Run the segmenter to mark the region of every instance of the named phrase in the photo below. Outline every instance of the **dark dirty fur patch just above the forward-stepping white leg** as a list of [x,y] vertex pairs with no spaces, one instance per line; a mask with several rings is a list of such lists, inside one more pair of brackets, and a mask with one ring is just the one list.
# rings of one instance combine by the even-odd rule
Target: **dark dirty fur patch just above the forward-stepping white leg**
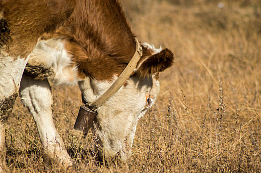
[[25,66],[23,75],[35,80],[44,80],[52,77],[54,75],[54,71],[51,69],[46,69],[40,65],[33,66],[27,64]]

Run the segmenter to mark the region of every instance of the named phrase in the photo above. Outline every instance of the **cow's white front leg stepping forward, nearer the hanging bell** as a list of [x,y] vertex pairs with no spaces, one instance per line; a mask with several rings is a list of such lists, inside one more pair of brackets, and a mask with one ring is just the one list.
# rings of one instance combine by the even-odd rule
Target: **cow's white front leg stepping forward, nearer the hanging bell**
[[23,76],[19,94],[22,103],[33,115],[47,157],[65,168],[71,166],[71,158],[53,122],[53,99],[48,80],[39,81]]

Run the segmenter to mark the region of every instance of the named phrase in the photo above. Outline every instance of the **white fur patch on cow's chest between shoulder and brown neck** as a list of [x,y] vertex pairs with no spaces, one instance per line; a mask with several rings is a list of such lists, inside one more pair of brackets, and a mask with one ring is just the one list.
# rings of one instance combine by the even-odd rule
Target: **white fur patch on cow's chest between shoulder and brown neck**
[[55,85],[75,85],[78,82],[77,67],[71,61],[70,54],[65,50],[63,39],[39,41],[35,45],[28,63],[52,69],[55,76],[49,80]]

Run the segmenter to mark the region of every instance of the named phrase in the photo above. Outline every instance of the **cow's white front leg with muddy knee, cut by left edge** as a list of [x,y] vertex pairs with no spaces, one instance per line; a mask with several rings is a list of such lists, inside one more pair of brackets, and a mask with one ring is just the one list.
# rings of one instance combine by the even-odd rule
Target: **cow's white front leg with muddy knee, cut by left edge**
[[5,122],[12,110],[28,58],[11,57],[0,47],[0,173],[5,164]]

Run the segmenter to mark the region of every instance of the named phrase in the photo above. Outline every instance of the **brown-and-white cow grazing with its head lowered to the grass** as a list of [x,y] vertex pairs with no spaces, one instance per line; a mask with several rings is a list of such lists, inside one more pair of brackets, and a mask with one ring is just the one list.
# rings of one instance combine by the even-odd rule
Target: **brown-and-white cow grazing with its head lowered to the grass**
[[0,0],[0,170],[4,124],[18,92],[44,152],[67,167],[72,161],[52,120],[49,82],[78,84],[83,103],[93,103],[138,57],[127,80],[92,107],[100,156],[127,159],[137,122],[158,95],[158,73],[174,59],[169,49],[139,44],[118,0]]

